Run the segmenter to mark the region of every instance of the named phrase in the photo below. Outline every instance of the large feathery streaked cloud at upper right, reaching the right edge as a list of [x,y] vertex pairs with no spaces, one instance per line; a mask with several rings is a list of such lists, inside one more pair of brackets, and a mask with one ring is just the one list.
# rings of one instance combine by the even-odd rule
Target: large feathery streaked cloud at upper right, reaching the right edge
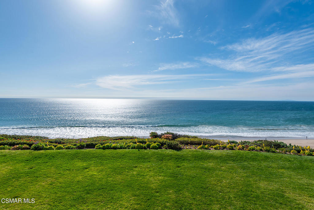
[[314,47],[312,28],[285,34],[275,33],[264,38],[250,38],[221,49],[234,52],[230,57],[200,58],[203,62],[233,71],[257,72],[280,68],[305,50]]

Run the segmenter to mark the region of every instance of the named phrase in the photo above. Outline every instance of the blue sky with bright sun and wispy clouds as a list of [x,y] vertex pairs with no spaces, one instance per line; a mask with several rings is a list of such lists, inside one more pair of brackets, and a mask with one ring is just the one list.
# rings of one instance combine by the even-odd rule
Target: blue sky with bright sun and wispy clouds
[[2,0],[0,97],[314,101],[310,0]]

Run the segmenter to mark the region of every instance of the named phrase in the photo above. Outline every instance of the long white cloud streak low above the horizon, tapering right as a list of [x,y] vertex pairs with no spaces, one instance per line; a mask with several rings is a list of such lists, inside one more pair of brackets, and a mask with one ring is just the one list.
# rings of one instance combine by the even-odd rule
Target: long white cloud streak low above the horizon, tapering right
[[180,80],[213,76],[213,74],[185,75],[109,75],[96,80],[96,85],[113,90],[125,90],[139,85],[174,83]]

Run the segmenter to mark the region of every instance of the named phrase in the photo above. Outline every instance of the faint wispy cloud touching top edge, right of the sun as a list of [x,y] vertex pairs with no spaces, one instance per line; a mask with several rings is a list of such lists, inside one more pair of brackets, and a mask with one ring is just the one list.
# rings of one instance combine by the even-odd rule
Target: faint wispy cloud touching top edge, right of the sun
[[160,5],[155,6],[155,16],[169,25],[179,26],[178,12],[174,6],[174,0],[162,0]]

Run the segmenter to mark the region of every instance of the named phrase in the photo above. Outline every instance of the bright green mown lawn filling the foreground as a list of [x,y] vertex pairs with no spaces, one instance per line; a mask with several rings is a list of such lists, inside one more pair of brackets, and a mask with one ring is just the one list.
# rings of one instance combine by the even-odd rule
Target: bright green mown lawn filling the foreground
[[0,209],[314,209],[314,157],[228,150],[0,151]]

